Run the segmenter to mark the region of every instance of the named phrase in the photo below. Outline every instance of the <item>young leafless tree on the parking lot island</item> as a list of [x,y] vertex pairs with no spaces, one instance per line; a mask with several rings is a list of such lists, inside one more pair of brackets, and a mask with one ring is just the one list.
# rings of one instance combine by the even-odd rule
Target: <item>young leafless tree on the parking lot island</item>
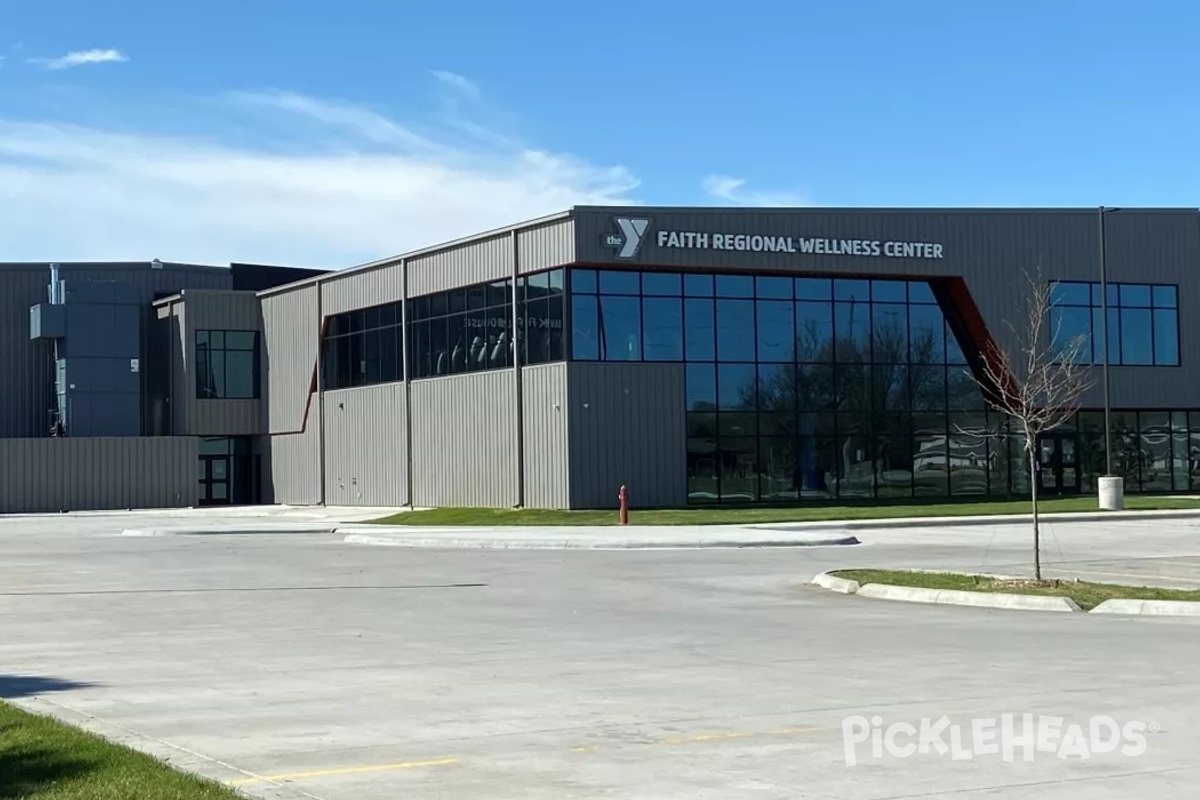
[[1028,295],[1022,314],[1006,320],[1012,332],[1008,348],[990,342],[980,353],[979,374],[971,373],[988,404],[1015,423],[1025,444],[1033,503],[1033,577],[1042,581],[1042,531],[1038,521],[1037,440],[1069,421],[1084,393],[1094,384],[1088,369],[1087,336],[1063,338],[1052,319],[1054,291],[1040,273],[1025,273]]

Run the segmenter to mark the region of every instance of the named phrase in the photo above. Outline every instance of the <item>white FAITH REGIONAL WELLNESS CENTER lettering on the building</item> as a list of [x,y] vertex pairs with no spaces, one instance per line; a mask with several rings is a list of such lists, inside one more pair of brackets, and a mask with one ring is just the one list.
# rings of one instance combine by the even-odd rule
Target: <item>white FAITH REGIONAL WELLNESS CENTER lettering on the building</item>
[[694,230],[659,230],[659,247],[674,249],[720,249],[737,253],[810,253],[814,255],[859,255],[880,258],[944,258],[942,245],[871,239],[805,239],[762,234],[707,234]]

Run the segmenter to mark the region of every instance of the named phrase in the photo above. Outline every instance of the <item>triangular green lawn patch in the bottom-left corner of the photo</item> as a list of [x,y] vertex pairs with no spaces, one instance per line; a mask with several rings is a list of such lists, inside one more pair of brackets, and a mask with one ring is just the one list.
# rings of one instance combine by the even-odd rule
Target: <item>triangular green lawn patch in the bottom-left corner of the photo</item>
[[238,800],[217,783],[0,702],[2,800]]

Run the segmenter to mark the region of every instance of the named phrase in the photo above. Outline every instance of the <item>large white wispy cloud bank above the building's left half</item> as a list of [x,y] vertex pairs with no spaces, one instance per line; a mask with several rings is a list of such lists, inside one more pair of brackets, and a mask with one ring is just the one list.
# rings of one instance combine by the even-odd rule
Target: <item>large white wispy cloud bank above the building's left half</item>
[[0,115],[5,260],[337,267],[572,204],[631,203],[638,185],[624,167],[510,134],[418,132],[326,98],[241,94],[214,108],[224,136]]

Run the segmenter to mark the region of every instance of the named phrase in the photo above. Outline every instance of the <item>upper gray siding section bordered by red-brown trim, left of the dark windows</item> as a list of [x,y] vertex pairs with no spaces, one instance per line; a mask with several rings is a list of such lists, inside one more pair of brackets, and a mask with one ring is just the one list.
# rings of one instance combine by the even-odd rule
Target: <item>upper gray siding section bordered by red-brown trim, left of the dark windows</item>
[[305,429],[310,410],[320,338],[317,285],[307,284],[266,295],[262,302],[262,385],[266,429],[270,433],[300,433]]

